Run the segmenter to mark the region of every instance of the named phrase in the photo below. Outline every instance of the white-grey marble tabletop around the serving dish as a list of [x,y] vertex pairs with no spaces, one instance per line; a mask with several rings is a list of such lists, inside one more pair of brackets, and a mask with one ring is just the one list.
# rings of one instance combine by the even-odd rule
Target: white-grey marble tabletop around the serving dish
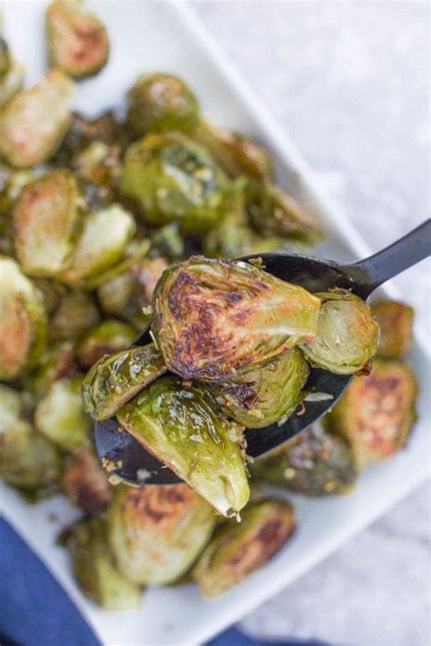
[[[427,3],[194,6],[371,247],[429,217]],[[429,276],[423,263],[394,281],[428,329]],[[426,646],[429,565],[424,487],[242,626],[340,646]]]

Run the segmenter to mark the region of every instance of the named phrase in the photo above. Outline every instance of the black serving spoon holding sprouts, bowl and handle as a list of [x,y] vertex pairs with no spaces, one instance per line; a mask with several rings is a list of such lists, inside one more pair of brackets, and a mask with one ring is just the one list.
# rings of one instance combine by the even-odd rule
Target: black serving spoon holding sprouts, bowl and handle
[[[346,288],[366,300],[382,283],[413,267],[420,260],[424,260],[430,252],[431,219],[428,219],[390,247],[349,265],[338,265],[331,260],[281,252],[255,254],[243,257],[241,260],[260,257],[267,272],[276,278],[301,285],[311,292]],[[149,331],[145,330],[136,340],[135,345],[142,346],[151,340]],[[327,370],[311,368],[306,388],[327,393],[331,399],[306,401],[302,409],[296,410],[296,413],[280,426],[271,424],[264,429],[247,429],[247,454],[253,458],[259,458],[306,429],[334,406],[351,379],[350,376],[335,375]],[[139,473],[144,472],[145,485],[170,484],[179,481],[175,473],[148,453],[137,439],[125,430],[119,432],[115,418],[95,424],[95,446],[99,457],[109,460],[112,467],[115,466],[112,472],[120,479],[140,484],[142,480],[139,479]],[[150,477],[148,473],[151,474]]]

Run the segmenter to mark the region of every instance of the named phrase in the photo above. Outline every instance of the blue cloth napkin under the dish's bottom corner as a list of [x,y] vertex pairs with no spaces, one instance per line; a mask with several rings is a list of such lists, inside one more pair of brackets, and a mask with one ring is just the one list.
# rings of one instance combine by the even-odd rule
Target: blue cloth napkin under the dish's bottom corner
[[[256,641],[231,628],[207,646],[278,646]],[[65,590],[0,518],[1,646],[97,646],[94,632]],[[289,646],[325,646],[318,641],[289,641]],[[125,645],[126,646],[126,645]]]

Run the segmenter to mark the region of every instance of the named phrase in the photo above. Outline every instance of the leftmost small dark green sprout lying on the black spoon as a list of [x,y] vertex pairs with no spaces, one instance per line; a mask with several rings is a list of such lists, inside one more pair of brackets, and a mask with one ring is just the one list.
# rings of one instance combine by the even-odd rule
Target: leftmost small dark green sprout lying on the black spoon
[[153,343],[100,358],[84,379],[85,410],[98,421],[108,419],[165,372],[163,358]]

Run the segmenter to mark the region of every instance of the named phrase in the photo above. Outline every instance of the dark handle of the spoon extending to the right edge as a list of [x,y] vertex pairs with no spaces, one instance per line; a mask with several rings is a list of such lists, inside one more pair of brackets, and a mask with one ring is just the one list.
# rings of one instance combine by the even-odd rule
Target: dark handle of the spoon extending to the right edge
[[394,278],[431,254],[431,219],[373,256],[349,265],[352,277],[364,285],[369,296],[379,285]]

